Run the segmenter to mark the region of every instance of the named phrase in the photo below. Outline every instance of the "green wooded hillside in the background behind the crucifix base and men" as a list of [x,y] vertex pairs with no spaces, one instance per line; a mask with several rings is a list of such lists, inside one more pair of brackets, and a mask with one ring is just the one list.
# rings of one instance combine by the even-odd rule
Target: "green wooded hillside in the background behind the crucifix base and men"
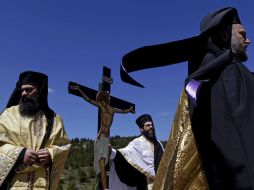
[[[125,147],[132,137],[111,137],[113,148]],[[65,170],[60,180],[58,190],[94,190],[96,175],[93,170],[93,143],[91,139],[75,138],[71,140],[71,151],[65,164]],[[166,142],[162,142],[165,146]]]

